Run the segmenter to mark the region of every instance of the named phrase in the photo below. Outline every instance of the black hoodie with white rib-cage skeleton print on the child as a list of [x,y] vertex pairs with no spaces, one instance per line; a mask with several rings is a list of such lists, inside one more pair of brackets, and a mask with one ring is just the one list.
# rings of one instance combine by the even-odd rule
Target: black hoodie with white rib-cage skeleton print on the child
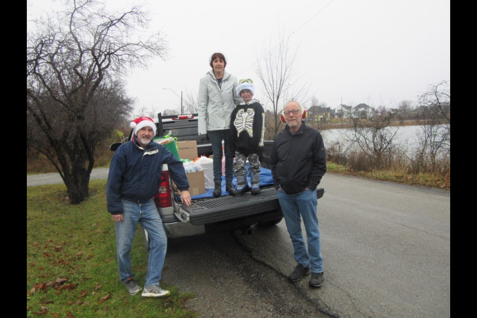
[[258,154],[263,151],[265,112],[260,102],[241,102],[230,116],[230,148],[233,154]]

